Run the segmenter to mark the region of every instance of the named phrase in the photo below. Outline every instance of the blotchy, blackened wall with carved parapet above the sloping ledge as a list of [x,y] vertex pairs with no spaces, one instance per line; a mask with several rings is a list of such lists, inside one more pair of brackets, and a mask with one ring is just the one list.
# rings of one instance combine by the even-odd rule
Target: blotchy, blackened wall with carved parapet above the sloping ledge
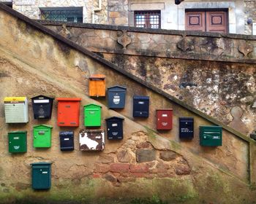
[[75,24],[48,27],[241,133],[255,129],[254,37]]

